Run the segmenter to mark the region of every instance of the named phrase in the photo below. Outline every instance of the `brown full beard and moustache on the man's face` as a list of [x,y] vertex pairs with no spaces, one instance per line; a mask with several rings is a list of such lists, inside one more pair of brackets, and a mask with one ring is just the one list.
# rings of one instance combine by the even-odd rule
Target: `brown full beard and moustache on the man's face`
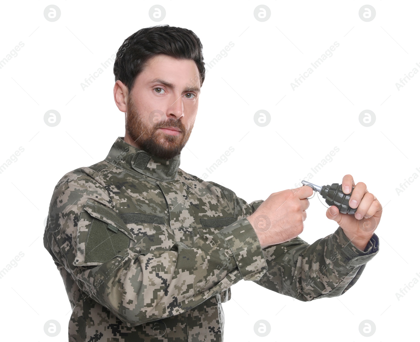
[[[161,113],[161,115],[159,115]],[[159,117],[160,116],[160,117]],[[187,131],[180,119],[164,119],[166,115],[160,110],[150,114],[139,114],[131,95],[128,98],[126,115],[126,132],[140,149],[158,158],[172,159],[181,153],[189,139],[194,122]],[[157,122],[156,119],[158,118]],[[152,126],[150,126],[152,124]],[[158,130],[159,128],[175,127],[179,129],[178,135],[169,135]]]

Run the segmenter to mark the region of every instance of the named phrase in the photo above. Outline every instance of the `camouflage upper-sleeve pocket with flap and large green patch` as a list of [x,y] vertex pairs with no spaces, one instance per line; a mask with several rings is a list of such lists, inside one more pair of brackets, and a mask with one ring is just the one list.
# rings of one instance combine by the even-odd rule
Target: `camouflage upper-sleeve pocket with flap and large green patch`
[[123,257],[134,237],[114,210],[93,200],[87,200],[77,227],[75,266],[100,265]]

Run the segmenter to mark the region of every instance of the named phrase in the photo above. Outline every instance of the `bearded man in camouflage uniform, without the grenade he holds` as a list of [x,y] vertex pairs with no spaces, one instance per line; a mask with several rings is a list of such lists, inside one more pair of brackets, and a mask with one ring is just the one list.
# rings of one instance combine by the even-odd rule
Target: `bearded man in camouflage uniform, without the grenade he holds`
[[[205,69],[190,30],[141,29],[120,47],[114,99],[126,132],[105,160],[64,175],[44,245],[73,312],[69,341],[222,341],[221,303],[241,279],[298,300],[339,296],[378,253],[382,207],[355,184],[331,235],[299,238],[310,187],[247,203],[179,168]],[[349,193],[353,178],[343,178]],[[354,202],[353,202],[354,201]]]

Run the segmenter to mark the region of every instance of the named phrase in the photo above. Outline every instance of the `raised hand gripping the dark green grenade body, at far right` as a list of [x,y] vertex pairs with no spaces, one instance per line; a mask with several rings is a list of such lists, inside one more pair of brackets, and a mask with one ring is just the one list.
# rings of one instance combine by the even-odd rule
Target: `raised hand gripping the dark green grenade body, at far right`
[[367,191],[365,183],[359,182],[354,185],[353,177],[349,174],[345,175],[341,185],[343,192],[349,194],[353,186],[349,205],[351,208],[357,208],[356,213],[354,215],[342,214],[335,205],[331,205],[326,216],[336,221],[352,244],[364,251],[381,220],[382,205],[373,194]]

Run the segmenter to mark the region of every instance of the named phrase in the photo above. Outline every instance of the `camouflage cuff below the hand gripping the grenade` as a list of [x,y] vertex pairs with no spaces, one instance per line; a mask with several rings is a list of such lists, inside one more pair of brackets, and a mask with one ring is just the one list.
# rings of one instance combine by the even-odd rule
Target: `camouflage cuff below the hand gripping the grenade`
[[364,251],[354,246],[339,226],[333,234],[333,241],[338,246],[340,254],[348,261],[347,268],[361,266],[371,260],[379,251],[378,235],[373,233]]

